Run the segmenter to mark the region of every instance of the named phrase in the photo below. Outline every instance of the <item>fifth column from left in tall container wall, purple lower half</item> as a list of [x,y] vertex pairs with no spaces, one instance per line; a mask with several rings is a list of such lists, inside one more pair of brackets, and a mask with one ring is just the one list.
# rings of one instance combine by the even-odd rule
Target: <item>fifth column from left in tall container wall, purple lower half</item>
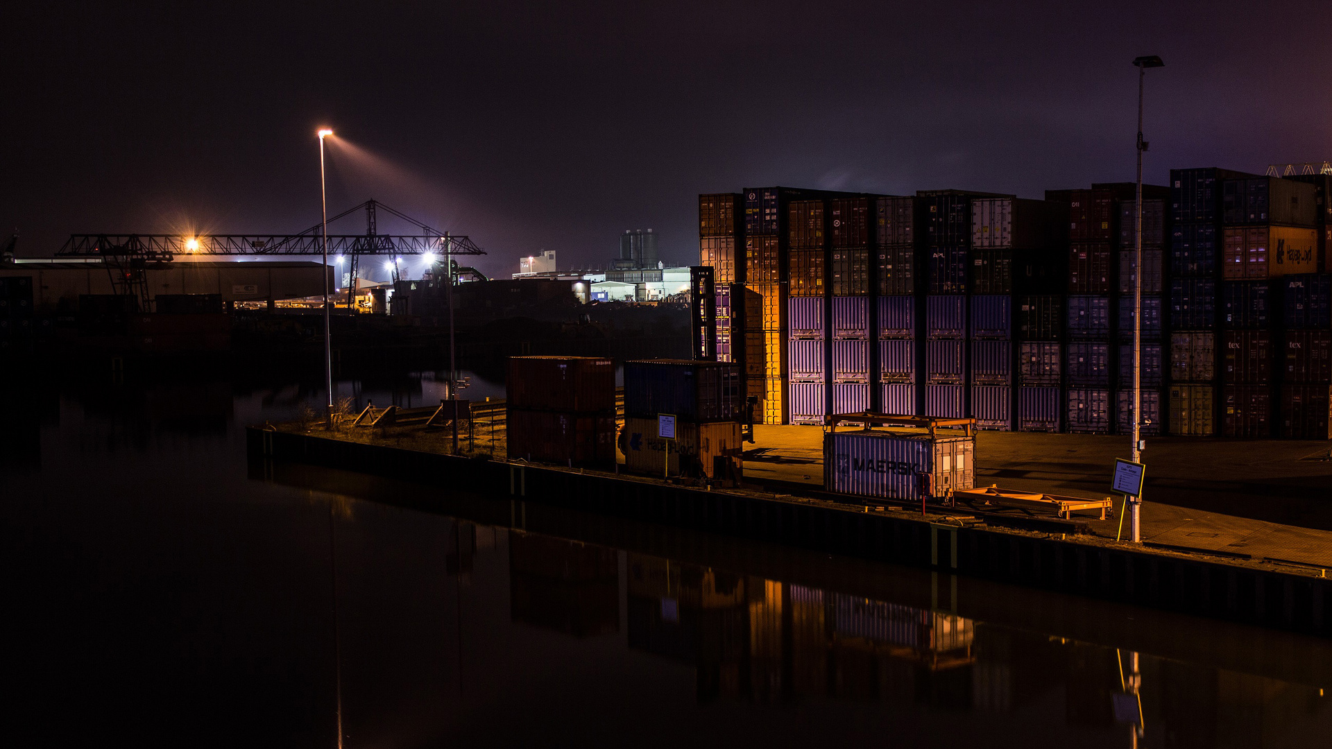
[[916,413],[916,199],[878,197],[874,284],[878,402],[882,413]]

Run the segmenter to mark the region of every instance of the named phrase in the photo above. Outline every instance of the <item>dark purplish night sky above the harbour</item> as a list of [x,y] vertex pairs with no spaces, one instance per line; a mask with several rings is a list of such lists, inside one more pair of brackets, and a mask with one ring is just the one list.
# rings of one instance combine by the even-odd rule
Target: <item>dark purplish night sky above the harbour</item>
[[298,232],[328,125],[330,213],[376,197],[492,273],[649,227],[687,264],[699,192],[1132,180],[1148,53],[1148,181],[1332,159],[1329,3],[377,5],[5,4],[4,236]]

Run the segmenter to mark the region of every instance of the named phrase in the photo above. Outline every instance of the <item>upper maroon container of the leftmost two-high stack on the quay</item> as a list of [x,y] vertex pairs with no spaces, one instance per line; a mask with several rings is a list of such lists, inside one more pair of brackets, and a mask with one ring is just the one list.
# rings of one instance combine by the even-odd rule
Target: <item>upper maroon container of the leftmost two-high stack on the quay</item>
[[615,413],[615,365],[589,356],[509,357],[507,408]]

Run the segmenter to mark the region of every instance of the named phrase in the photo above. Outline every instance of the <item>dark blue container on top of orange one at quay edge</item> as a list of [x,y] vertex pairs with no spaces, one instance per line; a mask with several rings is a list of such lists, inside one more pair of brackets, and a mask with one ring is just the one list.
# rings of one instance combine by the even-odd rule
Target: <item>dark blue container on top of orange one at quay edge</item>
[[625,363],[625,416],[673,413],[678,421],[733,421],[743,408],[737,364],[678,359]]

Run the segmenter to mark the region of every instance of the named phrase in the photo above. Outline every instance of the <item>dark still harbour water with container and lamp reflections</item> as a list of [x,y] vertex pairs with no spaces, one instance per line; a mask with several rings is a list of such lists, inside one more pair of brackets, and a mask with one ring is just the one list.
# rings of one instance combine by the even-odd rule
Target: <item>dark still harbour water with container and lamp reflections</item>
[[[438,382],[416,381],[410,397],[430,402]],[[394,386],[358,392],[378,402]],[[24,398],[0,480],[20,744],[330,745],[333,545],[348,746],[1316,746],[1332,728],[1325,685],[1188,650],[1188,632],[1144,634],[1135,658],[1112,637],[967,616],[919,570],[831,560],[831,582],[811,584],[773,572],[805,569],[805,552],[715,564],[699,549],[731,542],[647,552],[538,532],[542,517],[579,528],[538,505],[521,530],[366,498],[414,505],[438,488],[249,478],[241,428],[308,394],[213,382]],[[507,497],[468,501],[510,517]],[[1078,605],[1023,596],[1038,612]],[[1239,650],[1253,637],[1205,628]]]

